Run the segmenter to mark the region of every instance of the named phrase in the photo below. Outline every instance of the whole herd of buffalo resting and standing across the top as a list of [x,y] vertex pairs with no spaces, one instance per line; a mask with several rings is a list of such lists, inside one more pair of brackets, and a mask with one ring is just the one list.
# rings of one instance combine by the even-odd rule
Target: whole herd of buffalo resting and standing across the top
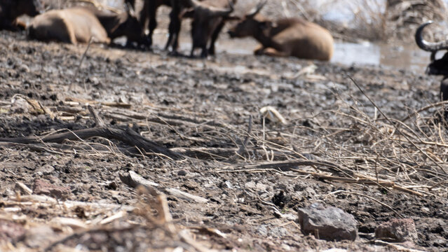
[[[134,9],[140,2],[140,10]],[[79,6],[44,12],[40,0],[0,0],[0,29],[18,29],[20,15],[34,17],[26,25],[29,38],[39,41],[65,43],[112,43],[114,38],[125,36],[127,45],[150,48],[157,27],[157,9],[169,6],[170,25],[165,50],[177,54],[182,20],[191,18],[191,57],[201,50],[201,57],[215,55],[215,42],[229,20],[237,24],[229,29],[229,36],[242,38],[252,36],[259,43],[256,55],[274,57],[299,57],[328,61],[333,55],[333,37],[330,31],[312,22],[299,18],[271,20],[262,16],[266,0],[255,6],[243,17],[233,15],[237,0],[124,0],[125,11],[112,13],[95,6]],[[419,48],[432,52],[427,73],[444,76],[440,85],[440,96],[448,100],[448,52],[435,59],[436,52],[448,50],[448,41],[430,43],[422,37],[427,22],[416,30],[415,40]],[[23,26],[23,25],[22,25]],[[145,31],[149,29],[147,34]]]

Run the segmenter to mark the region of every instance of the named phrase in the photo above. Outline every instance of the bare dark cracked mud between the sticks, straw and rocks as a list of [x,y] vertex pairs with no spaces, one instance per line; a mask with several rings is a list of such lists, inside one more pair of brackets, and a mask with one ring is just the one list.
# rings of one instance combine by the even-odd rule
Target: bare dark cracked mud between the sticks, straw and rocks
[[[41,136],[60,130],[93,127],[94,122],[86,111],[86,104],[91,104],[107,124],[132,127],[168,148],[238,149],[243,142],[240,132],[247,130],[248,118],[252,116],[254,135],[262,137],[266,133],[269,141],[295,148],[311,160],[330,160],[337,154],[332,150],[338,146],[319,146],[317,143],[324,135],[338,129],[351,128],[335,134],[334,143],[353,145],[353,150],[359,153],[372,146],[372,140],[362,137],[365,133],[362,125],[353,125],[353,120],[335,113],[337,108],[351,104],[365,111],[365,115],[379,118],[378,111],[348,76],[359,83],[389,118],[405,118],[409,113],[439,101],[439,78],[390,67],[346,66],[226,52],[206,60],[189,59],[170,57],[157,48],[154,52],[142,52],[102,45],[92,45],[80,66],[85,50],[86,45],[39,43],[27,41],[24,34],[0,32],[0,137]],[[311,64],[315,64],[315,72],[298,75],[301,69]],[[74,87],[72,90],[70,85]],[[41,102],[53,111],[55,118],[39,114],[22,97]],[[75,106],[76,101],[83,102]],[[122,102],[130,104],[130,108],[105,106],[99,102]],[[287,118],[287,125],[266,123],[263,130],[259,109],[268,105]],[[67,112],[69,106],[79,110]],[[437,109],[425,111],[421,116],[430,120],[435,118],[435,111]],[[137,113],[145,118],[133,116]],[[171,125],[158,118],[171,122]],[[417,127],[414,126],[411,125],[413,129]],[[285,139],[287,134],[293,137]],[[109,144],[104,139],[89,139],[88,142]],[[118,141],[112,143],[118,147],[132,147]],[[249,143],[255,147],[263,145],[257,139],[251,139]],[[435,149],[431,150],[435,152]],[[424,196],[419,197],[372,185],[285,176],[288,172],[222,172],[241,164],[264,162],[264,152],[243,155],[244,158],[238,158],[233,164],[224,162],[219,153],[217,158],[175,161],[158,155],[132,157],[113,151],[96,153],[89,148],[55,154],[20,146],[0,147],[0,154],[0,178],[3,181],[0,195],[3,200],[15,196],[16,182],[32,188],[35,179],[43,179],[55,186],[70,188],[67,200],[135,206],[135,191],[118,177],[118,173],[131,170],[161,186],[204,197],[209,201],[200,204],[168,195],[168,204],[176,225],[216,228],[226,234],[225,238],[210,234],[196,237],[210,248],[393,251],[391,246],[381,246],[372,240],[376,226],[391,218],[415,221],[419,238],[410,245],[413,248],[446,251],[448,246],[448,200],[444,187],[437,193],[424,190]],[[276,154],[275,160],[285,158]],[[360,169],[358,165],[356,160],[351,162],[353,169]],[[445,167],[443,163],[442,166]],[[398,174],[393,165],[389,168],[391,174]],[[423,168],[437,169],[430,162]],[[388,170],[380,171],[382,178],[385,178],[384,174],[389,174]],[[412,179],[418,176],[415,181],[425,181],[426,177],[429,186],[433,185],[432,181],[437,181],[433,173],[424,174],[420,170],[417,175],[410,176]],[[402,180],[397,177],[397,181]],[[348,193],[338,193],[340,190]],[[274,204],[290,219],[278,216],[266,202]],[[299,207],[313,202],[323,202],[353,214],[358,221],[360,237],[353,242],[327,242],[302,235],[294,217]],[[1,211],[4,209],[0,207]],[[83,221],[97,217],[86,216],[83,211],[88,210],[22,207],[15,214],[27,216],[34,223],[46,223],[61,216]],[[56,235],[60,232],[54,231]],[[157,236],[151,237],[144,229],[123,231],[118,235],[121,239],[115,239],[114,232],[98,231],[88,239],[69,239],[65,246],[83,244],[92,250],[106,251],[132,251],[132,247],[134,251],[144,251],[158,242]],[[17,246],[22,242],[20,239],[10,241]]]

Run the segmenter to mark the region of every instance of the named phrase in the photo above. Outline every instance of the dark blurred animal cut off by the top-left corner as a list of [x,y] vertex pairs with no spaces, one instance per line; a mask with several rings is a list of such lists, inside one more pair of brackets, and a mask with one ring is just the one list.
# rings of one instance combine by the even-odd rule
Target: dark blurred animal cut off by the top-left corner
[[39,0],[0,0],[0,30],[17,29],[15,19],[20,15],[34,17],[43,10]]

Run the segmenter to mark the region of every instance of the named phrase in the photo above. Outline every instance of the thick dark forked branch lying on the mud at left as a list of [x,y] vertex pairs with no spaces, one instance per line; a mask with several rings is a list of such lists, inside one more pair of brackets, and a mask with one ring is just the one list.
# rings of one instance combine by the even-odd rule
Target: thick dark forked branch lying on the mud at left
[[45,137],[14,137],[14,138],[0,138],[0,142],[13,142],[17,144],[39,144],[42,142],[62,143],[67,140],[88,139],[90,137],[104,137],[106,139],[116,139],[122,141],[130,146],[135,146],[140,150],[150,153],[160,153],[173,160],[181,158],[179,153],[170,151],[168,148],[159,146],[153,141],[146,139],[137,132],[127,128],[122,130],[118,127],[107,127],[104,122],[97,116],[95,111],[88,106],[90,115],[95,120],[96,126],[90,129],[73,130],[70,132],[50,134]]

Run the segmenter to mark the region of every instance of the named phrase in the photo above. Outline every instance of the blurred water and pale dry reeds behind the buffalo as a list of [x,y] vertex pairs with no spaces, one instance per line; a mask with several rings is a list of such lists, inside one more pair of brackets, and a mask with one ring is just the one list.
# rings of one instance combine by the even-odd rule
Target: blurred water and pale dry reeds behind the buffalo
[[[123,0],[88,1],[123,9]],[[238,0],[235,14],[244,15],[258,2]],[[414,32],[423,22],[433,20],[435,24],[425,30],[424,38],[428,41],[447,39],[447,3],[448,0],[268,0],[262,14],[273,19],[304,18],[329,29],[336,40],[332,62],[423,72],[429,62],[429,53],[416,47]],[[63,8],[79,4],[79,1],[46,0],[46,4],[51,8]],[[155,43],[159,48],[168,35],[169,11],[168,7],[158,10]],[[188,34],[189,20],[186,20],[182,28],[181,50],[190,47]],[[252,54],[257,46],[251,38],[230,40],[224,33],[220,38],[217,50],[221,52]]]

